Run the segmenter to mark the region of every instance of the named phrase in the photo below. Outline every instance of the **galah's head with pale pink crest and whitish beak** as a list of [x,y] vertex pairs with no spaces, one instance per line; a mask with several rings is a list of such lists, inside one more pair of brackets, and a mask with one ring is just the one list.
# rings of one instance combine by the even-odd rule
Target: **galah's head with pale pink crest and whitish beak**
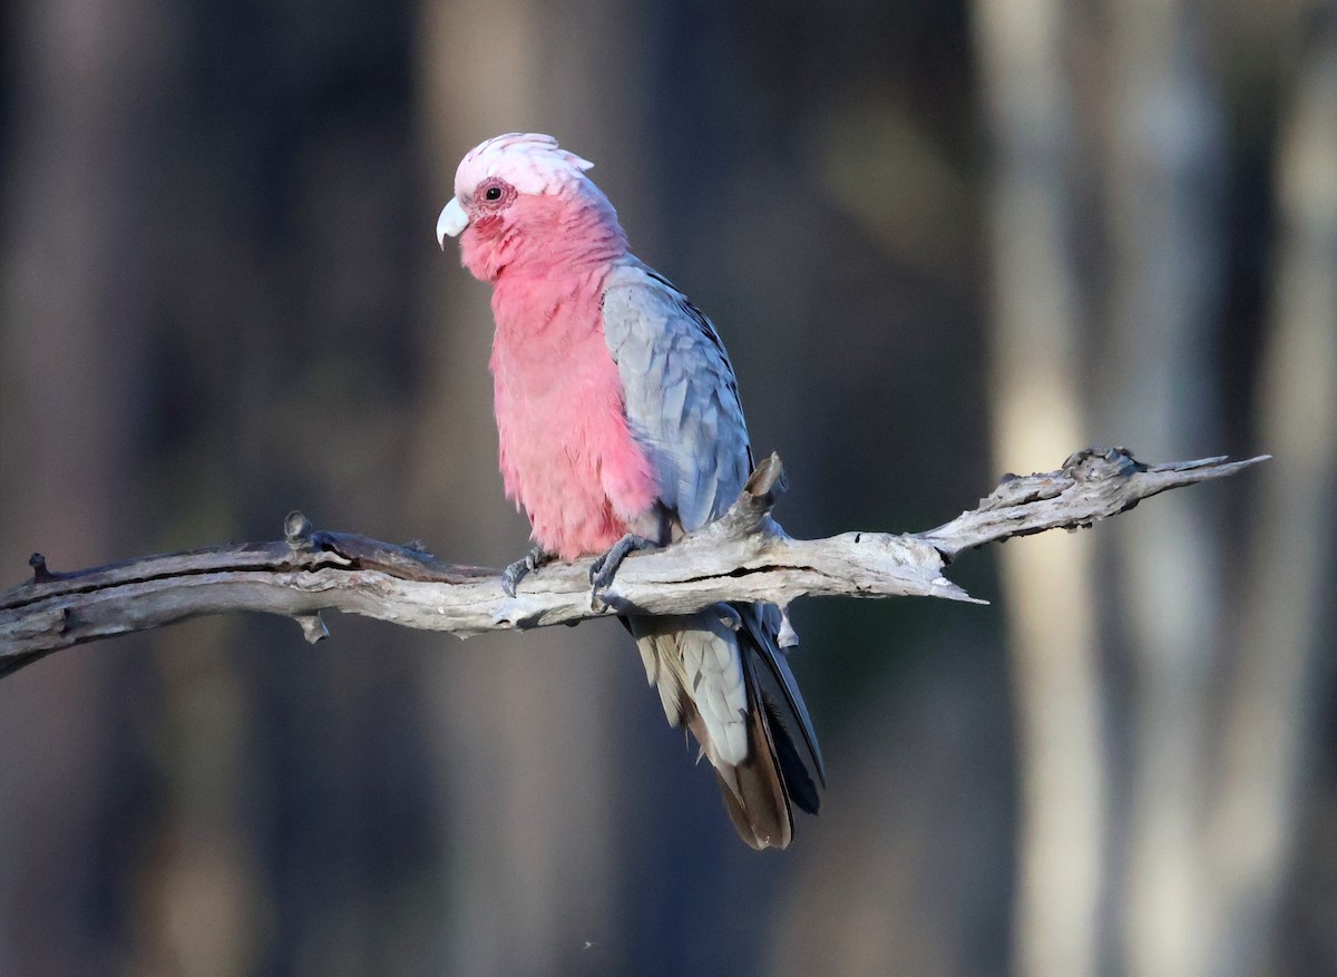
[[608,198],[584,171],[594,163],[552,136],[508,132],[465,154],[436,238],[460,238],[460,258],[483,281],[532,261],[556,263],[626,249]]

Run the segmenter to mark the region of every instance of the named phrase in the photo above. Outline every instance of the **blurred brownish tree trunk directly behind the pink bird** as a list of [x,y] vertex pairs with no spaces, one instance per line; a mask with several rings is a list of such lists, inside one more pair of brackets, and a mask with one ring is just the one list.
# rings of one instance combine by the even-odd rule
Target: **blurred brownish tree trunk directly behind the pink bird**
[[[635,45],[618,40],[627,31],[623,16],[614,3],[579,15],[531,0],[424,4],[421,130],[440,204],[453,192],[460,156],[508,130],[554,132],[596,162],[616,159],[623,179],[602,183],[626,204],[635,190],[626,175],[639,168],[627,123],[635,65],[619,55]],[[422,214],[424,247],[435,261],[422,302],[431,378],[413,507],[439,549],[509,561],[529,543],[524,521],[505,519],[511,504],[497,474],[489,289],[460,269],[456,242],[436,254],[435,219]],[[620,779],[634,652],[611,623],[476,640],[511,647],[449,648],[436,659],[428,694],[440,716],[435,735],[451,833],[445,970],[598,969],[619,954],[606,921],[615,916],[626,818],[612,799],[618,791],[591,785]],[[540,660],[547,664],[536,667]]]

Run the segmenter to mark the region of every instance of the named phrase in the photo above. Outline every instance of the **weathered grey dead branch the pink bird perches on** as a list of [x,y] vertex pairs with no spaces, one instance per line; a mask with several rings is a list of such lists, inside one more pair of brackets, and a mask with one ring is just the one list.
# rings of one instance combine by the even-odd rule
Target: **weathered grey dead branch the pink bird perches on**
[[328,635],[320,617],[325,609],[467,638],[626,611],[683,613],[722,600],[786,605],[801,596],[846,595],[969,601],[943,576],[967,549],[1088,527],[1148,496],[1234,474],[1266,457],[1148,466],[1122,448],[1087,449],[1058,472],[1005,476],[977,508],[928,532],[796,540],[770,517],[786,485],[773,454],[722,519],[671,547],[628,557],[599,595],[590,589],[588,561],[544,567],[508,597],[500,571],[444,563],[413,545],[313,531],[297,512],[275,543],[147,556],[74,573],[56,573],[33,555],[32,579],[0,593],[0,675],[72,644],[233,611],[293,617],[317,642]]

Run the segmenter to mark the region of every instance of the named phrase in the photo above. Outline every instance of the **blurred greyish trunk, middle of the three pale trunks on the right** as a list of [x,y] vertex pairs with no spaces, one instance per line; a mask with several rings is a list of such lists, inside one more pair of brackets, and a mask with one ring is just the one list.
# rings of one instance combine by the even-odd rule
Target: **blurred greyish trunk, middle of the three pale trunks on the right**
[[[1191,452],[1219,441],[1219,108],[1190,4],[1108,11],[1110,293],[1094,437]],[[1131,666],[1122,956],[1146,977],[1191,977],[1209,962],[1199,826],[1223,605],[1211,501],[1171,500],[1116,535],[1111,620],[1123,628],[1112,634]]]

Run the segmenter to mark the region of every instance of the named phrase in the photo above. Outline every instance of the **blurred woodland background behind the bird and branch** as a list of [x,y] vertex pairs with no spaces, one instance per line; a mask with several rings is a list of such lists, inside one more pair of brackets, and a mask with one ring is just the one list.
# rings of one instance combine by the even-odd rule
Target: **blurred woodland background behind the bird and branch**
[[1337,973],[1332,0],[13,0],[0,585],[290,508],[516,559],[433,241],[511,130],[714,317],[794,535],[1275,461],[963,559],[989,607],[797,605],[783,853],[612,623],[51,656],[0,682],[0,974]]

